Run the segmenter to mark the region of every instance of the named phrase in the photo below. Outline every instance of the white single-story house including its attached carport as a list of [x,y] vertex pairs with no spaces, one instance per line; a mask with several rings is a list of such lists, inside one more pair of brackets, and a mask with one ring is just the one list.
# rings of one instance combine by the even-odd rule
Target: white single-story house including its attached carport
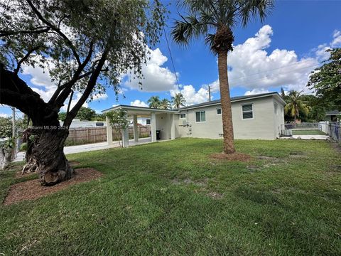
[[[234,139],[276,139],[284,124],[286,102],[277,92],[232,97]],[[151,120],[151,142],[160,139],[196,137],[219,139],[222,137],[222,110],[220,100],[213,100],[178,110],[160,110],[149,107],[117,105],[103,110],[125,110],[133,118],[134,140],[138,142],[138,117]],[[108,121],[108,120],[107,120]],[[108,123],[108,122],[107,122]],[[112,127],[107,126],[108,144],[112,144]],[[123,145],[129,146],[128,130],[123,132]]]

